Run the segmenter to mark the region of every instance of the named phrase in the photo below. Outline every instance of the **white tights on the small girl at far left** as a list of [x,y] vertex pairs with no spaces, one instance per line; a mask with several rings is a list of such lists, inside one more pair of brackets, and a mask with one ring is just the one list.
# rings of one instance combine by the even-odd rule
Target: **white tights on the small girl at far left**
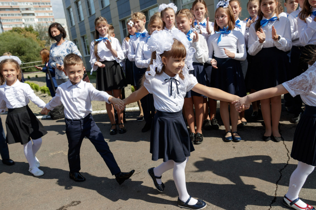
[[[33,145],[32,145],[32,141],[33,141]],[[42,145],[42,138],[32,139],[32,141],[29,141],[28,143],[24,144],[23,147],[24,147],[25,158],[27,162],[29,162],[30,169],[31,168],[33,169],[31,172],[35,173],[37,170],[39,170],[35,165],[35,162],[38,161],[37,158],[35,157],[35,154]]]

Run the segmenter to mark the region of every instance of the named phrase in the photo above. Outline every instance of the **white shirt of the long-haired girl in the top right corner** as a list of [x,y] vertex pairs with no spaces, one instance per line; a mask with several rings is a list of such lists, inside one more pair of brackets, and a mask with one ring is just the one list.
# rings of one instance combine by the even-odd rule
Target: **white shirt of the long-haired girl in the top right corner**
[[[316,8],[312,7],[312,12],[316,11]],[[306,23],[298,17],[298,36],[300,43],[305,45],[316,45],[316,21],[315,16],[306,18]]]

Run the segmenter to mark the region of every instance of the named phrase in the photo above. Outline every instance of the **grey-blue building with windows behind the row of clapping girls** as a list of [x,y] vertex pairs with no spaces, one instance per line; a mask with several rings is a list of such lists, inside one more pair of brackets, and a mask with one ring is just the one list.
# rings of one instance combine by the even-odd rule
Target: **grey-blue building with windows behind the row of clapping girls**
[[[115,29],[115,37],[122,44],[127,35],[126,21],[131,12],[141,11],[145,14],[147,23],[149,18],[158,12],[158,5],[174,2],[178,9],[191,8],[194,0],[63,0],[66,19],[73,41],[83,55],[85,66],[90,68],[90,43],[94,39],[94,19],[98,16],[106,18]],[[214,8],[214,1],[215,8]],[[205,0],[210,12],[214,16],[218,0]]]

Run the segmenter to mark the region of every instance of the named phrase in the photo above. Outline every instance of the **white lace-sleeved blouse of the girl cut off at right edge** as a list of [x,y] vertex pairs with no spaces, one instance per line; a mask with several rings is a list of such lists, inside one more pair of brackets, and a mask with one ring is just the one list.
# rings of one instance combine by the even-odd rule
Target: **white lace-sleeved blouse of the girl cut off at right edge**
[[292,97],[300,95],[302,101],[309,106],[316,106],[316,64],[293,80],[282,83]]

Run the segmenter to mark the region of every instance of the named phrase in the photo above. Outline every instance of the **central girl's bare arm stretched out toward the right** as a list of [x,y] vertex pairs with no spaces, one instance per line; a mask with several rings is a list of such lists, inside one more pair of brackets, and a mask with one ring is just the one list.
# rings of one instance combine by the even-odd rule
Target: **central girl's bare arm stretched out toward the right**
[[232,95],[230,93],[226,93],[225,91],[222,91],[217,88],[213,87],[207,87],[202,84],[196,84],[192,90],[196,93],[202,94],[204,96],[213,98],[215,100],[220,100],[220,101],[227,101],[227,102],[232,102],[234,100],[239,99],[239,96]]

